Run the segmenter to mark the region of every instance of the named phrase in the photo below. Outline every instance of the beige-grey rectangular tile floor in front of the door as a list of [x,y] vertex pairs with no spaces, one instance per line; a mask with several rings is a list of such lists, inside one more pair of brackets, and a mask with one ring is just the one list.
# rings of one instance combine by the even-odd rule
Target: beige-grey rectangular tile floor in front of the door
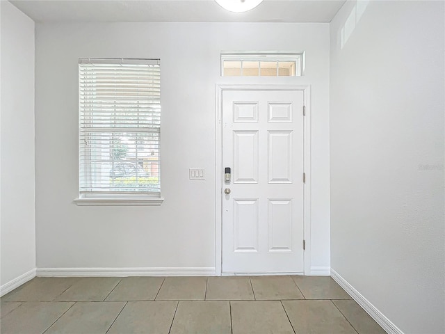
[[321,276],[34,278],[0,315],[2,334],[385,333]]

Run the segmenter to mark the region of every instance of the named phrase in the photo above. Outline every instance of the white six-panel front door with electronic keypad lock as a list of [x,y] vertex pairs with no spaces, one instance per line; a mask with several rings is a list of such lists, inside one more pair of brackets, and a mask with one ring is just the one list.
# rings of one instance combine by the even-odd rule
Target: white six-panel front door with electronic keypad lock
[[223,273],[303,273],[303,91],[222,100]]

